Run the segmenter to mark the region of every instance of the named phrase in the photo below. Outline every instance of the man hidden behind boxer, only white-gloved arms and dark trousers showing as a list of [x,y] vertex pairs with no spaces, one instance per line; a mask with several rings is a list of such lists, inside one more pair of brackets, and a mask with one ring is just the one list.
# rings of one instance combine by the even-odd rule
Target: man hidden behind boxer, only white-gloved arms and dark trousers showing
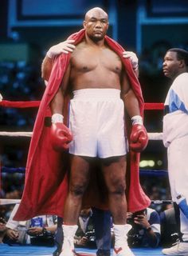
[[[60,42],[55,46],[50,47],[48,50],[44,61],[42,62],[41,66],[41,75],[45,79],[45,85],[47,86],[49,80],[49,74],[53,68],[53,61],[59,54],[69,54],[75,50],[76,46],[73,45],[74,40],[67,40],[65,42]],[[139,65],[138,65],[138,58],[135,53],[131,51],[124,51],[123,58],[130,58],[131,65],[135,74],[138,76],[139,74]],[[47,63],[47,65],[46,65]],[[51,66],[51,70],[50,70]],[[46,70],[47,67],[47,70]],[[45,77],[45,74],[48,74]],[[111,218],[110,213],[107,210],[99,210],[97,208],[93,208],[93,219],[96,231],[96,255],[97,256],[110,256],[111,250]],[[63,242],[63,232],[62,232],[62,219],[57,218],[57,250],[53,252],[53,256],[58,256],[61,254],[61,246]]]

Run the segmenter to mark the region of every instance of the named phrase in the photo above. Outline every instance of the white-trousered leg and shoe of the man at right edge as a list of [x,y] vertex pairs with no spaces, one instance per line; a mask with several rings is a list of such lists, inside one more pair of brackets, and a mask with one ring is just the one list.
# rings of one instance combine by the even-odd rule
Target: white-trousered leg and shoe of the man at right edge
[[[168,147],[168,173],[172,200],[178,203],[180,242],[176,246],[163,249],[165,255],[187,255],[188,256],[188,169],[187,169],[188,136],[177,138]],[[185,197],[185,198],[184,198]],[[184,198],[184,200],[182,200]],[[184,212],[184,213],[183,213]]]

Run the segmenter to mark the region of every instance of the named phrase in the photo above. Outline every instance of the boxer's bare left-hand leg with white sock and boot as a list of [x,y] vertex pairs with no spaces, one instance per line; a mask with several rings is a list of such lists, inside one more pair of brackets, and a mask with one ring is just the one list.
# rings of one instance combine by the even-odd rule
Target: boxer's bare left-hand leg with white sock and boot
[[73,256],[73,238],[77,230],[82,198],[89,180],[89,162],[85,158],[72,156],[69,193],[64,211],[64,242],[60,256]]

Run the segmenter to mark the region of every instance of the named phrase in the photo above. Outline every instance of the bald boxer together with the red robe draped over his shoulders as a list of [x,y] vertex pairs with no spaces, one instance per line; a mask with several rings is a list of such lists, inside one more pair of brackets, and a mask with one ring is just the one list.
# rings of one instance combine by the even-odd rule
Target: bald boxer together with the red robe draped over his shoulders
[[[25,203],[28,204],[28,192],[33,190],[34,175],[33,171],[30,170],[39,167],[35,170],[40,169],[39,173],[41,174],[41,167],[45,164],[40,198],[43,202],[43,211],[56,211],[57,216],[63,216],[64,218],[64,243],[61,256],[74,254],[73,237],[76,233],[81,205],[85,202],[82,200],[84,192],[86,188],[89,189],[90,181],[94,185],[94,179],[90,178],[90,175],[94,173],[91,168],[96,157],[100,158],[100,170],[103,174],[104,185],[108,192],[109,208],[115,223],[114,255],[134,255],[127,246],[127,232],[130,226],[126,224],[125,174],[128,147],[127,137],[124,133],[124,118],[127,118],[129,122],[131,121],[131,132],[129,130],[130,135],[128,137],[130,138],[131,158],[134,159],[131,162],[134,166],[131,168],[131,174],[133,175],[138,174],[138,152],[145,149],[148,138],[143,126],[143,97],[139,81],[132,70],[131,62],[124,60],[122,57],[123,48],[106,36],[107,30],[108,14],[98,7],[89,10],[85,15],[84,30],[72,35],[72,38],[76,41],[76,50],[71,55],[68,54],[67,57],[61,54],[53,65],[48,86],[41,101],[41,108],[37,114],[33,131],[35,135],[32,138],[34,143],[31,142],[29,148],[27,162],[29,170],[25,179],[25,190],[15,218],[29,218],[31,214],[40,212],[40,202],[37,205],[35,204],[34,207],[30,206],[30,210],[25,207]],[[90,62],[88,62],[88,59]],[[65,126],[67,111],[63,111],[67,107],[67,94],[73,94],[70,101],[71,106],[69,106],[69,128]],[[106,102],[106,104],[103,102]],[[43,113],[44,110],[48,111],[48,116],[45,115],[47,112]],[[124,110],[126,110],[126,115],[124,115]],[[45,117],[49,118],[46,120]],[[52,120],[51,127],[47,123],[49,119]],[[45,130],[41,130],[44,121]],[[95,127],[100,129],[95,129]],[[58,130],[61,131],[60,134]],[[46,138],[44,131],[50,138],[49,143],[45,143],[45,150],[48,154],[43,154],[43,157],[40,158],[43,164],[37,166],[39,162],[33,160],[39,158],[41,154],[38,146],[44,145],[44,141],[41,141],[42,138]],[[68,194],[62,193],[67,191],[65,182],[68,177],[62,172],[61,161],[54,164],[55,158],[56,160],[62,159],[63,150],[69,150],[69,154],[65,154],[65,157],[70,155]],[[32,154],[33,157],[31,157]],[[55,167],[59,172],[54,171]],[[65,167],[67,168],[67,165]],[[96,166],[94,169],[96,170]],[[53,177],[55,173],[56,175]],[[38,174],[38,171],[36,174]],[[55,180],[54,178],[57,179],[58,175],[64,178]],[[45,177],[50,177],[47,178],[47,183],[45,183],[47,181],[44,179]],[[30,182],[30,179],[32,182]],[[40,178],[37,176],[37,183],[38,180]],[[135,183],[131,182],[128,190],[129,208],[131,209],[132,206],[133,211],[141,210],[150,204],[150,199],[143,193],[137,175],[133,179],[131,177],[131,180],[134,180]],[[47,184],[48,186],[46,186]],[[57,186],[58,184],[59,186]],[[52,190],[55,188],[57,193],[53,194]],[[45,191],[45,194],[42,191]],[[96,192],[96,190],[92,190],[92,192],[94,191]],[[29,200],[33,202],[37,192],[35,184],[35,190],[31,193],[32,198],[29,198]],[[52,194],[51,198],[50,194]],[[48,198],[48,202],[45,198]],[[60,200],[57,200],[58,198]],[[95,193],[93,200],[88,196],[84,197],[84,200],[89,200],[90,204],[94,204],[96,198],[97,194]],[[61,210],[55,210],[56,206],[54,205],[58,206],[59,209],[61,208]],[[50,206],[53,207],[50,209]]]

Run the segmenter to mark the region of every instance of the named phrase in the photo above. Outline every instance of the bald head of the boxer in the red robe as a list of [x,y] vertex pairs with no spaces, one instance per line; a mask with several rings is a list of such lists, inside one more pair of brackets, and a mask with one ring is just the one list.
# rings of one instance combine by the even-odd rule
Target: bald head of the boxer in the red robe
[[92,8],[85,14],[83,25],[88,38],[94,42],[98,42],[107,33],[108,14],[99,7]]

